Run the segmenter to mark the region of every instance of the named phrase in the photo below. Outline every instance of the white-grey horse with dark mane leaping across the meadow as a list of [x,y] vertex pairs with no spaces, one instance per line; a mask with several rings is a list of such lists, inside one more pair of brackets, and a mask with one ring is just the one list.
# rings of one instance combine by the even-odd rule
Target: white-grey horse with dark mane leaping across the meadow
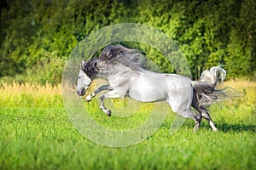
[[[142,102],[166,101],[171,105],[172,111],[193,119],[195,130],[200,127],[202,117],[207,119],[213,131],[217,130],[204,105],[218,101],[218,96],[225,95],[223,90],[215,88],[218,82],[224,81],[226,72],[223,68],[215,66],[210,71],[203,71],[201,81],[195,82],[177,74],[145,70],[144,63],[137,50],[110,45],[103,49],[98,58],[90,59],[87,63],[82,61],[77,93],[83,96],[93,79],[102,77],[109,84],[97,88],[86,100],[89,102],[96,94],[108,91],[100,95],[100,109],[108,116],[111,116],[111,111],[103,102],[107,98],[130,97]],[[192,111],[191,106],[199,114]]]

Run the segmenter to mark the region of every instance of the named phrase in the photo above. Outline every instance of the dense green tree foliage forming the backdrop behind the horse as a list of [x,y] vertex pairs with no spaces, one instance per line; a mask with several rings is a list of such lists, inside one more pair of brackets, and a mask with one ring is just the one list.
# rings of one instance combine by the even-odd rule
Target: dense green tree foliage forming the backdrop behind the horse
[[[124,22],[154,26],[172,37],[188,59],[194,79],[218,64],[230,77],[250,76],[256,67],[255,11],[253,0],[6,1],[0,20],[0,77],[30,75],[49,60],[49,54],[50,60],[63,63],[91,31]],[[174,72],[157,51],[137,47],[147,50],[147,57],[162,71]],[[62,67],[46,63],[53,65],[49,74],[57,73],[57,78],[48,75],[42,81],[60,82],[61,71],[55,69]],[[40,82],[38,74],[32,81]]]

